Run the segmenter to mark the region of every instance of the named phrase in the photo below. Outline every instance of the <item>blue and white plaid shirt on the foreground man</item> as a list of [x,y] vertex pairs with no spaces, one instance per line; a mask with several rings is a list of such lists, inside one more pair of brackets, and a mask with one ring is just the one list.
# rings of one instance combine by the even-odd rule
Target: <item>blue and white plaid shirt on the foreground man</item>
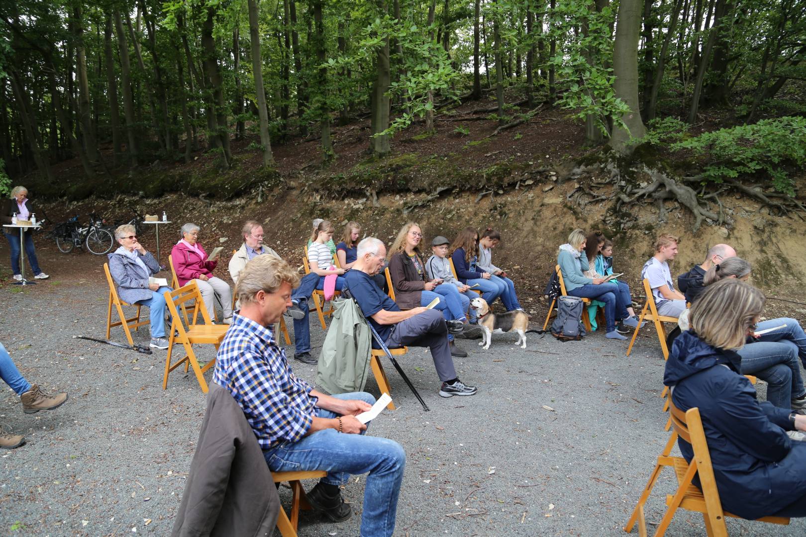
[[313,386],[291,372],[272,331],[237,314],[218,349],[213,382],[230,391],[264,450],[300,440],[317,414]]

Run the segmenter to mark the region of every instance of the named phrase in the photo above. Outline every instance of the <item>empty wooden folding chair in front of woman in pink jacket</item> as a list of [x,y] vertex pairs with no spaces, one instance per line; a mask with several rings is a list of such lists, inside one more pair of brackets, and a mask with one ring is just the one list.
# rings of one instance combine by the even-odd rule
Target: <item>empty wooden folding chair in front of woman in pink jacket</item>
[[[190,302],[193,302],[193,305],[190,305]],[[162,389],[165,390],[168,387],[168,373],[184,364],[185,373],[188,372],[189,366],[193,366],[193,373],[196,374],[199,386],[202,387],[204,393],[207,393],[207,382],[204,379],[204,374],[206,370],[215,365],[215,358],[208,361],[205,366],[199,366],[196,354],[193,353],[193,345],[210,343],[215,345],[215,349],[218,351],[218,346],[221,345],[224,334],[230,327],[228,324],[213,324],[210,322],[210,315],[205,308],[202,293],[199,292],[199,288],[194,281],[176,291],[165,291],[165,303],[168,304],[168,312],[171,314],[171,329],[168,332],[168,356],[165,357],[165,374],[162,378]],[[177,307],[181,308],[182,306],[193,308],[190,317],[187,317],[186,314],[179,315]],[[204,324],[196,323],[200,313]],[[188,318],[192,322],[187,324],[187,328],[185,328],[182,320]],[[174,345],[182,345],[185,348],[185,357],[171,363]]]

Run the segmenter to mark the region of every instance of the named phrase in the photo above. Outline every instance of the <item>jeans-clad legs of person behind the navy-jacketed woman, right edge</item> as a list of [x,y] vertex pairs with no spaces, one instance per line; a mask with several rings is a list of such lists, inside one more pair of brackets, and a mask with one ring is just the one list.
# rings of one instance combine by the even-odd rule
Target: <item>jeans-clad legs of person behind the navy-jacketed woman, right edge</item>
[[791,400],[804,394],[798,349],[791,341],[758,341],[738,349],[742,374],[752,374],[767,382],[767,401],[791,410]]

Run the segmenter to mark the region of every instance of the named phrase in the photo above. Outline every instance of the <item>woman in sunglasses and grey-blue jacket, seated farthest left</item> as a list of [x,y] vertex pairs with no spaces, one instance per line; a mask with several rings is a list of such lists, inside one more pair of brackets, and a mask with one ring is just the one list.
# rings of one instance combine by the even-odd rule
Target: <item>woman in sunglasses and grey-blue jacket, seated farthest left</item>
[[129,304],[147,306],[151,312],[151,346],[155,349],[168,349],[165,339],[165,291],[173,291],[171,287],[160,287],[156,283],[148,283],[148,278],[160,271],[160,263],[147,252],[137,240],[135,226],[123,224],[114,230],[114,238],[120,247],[108,254],[109,272],[118,284],[118,295]]

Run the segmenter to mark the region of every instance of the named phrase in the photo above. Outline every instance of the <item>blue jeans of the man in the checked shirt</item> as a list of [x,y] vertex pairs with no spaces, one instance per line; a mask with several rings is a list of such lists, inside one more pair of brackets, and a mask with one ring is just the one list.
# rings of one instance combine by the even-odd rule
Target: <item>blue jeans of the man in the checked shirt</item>
[[[375,398],[364,392],[333,397],[375,403]],[[320,418],[336,417],[333,412],[321,408],[317,415]],[[325,429],[304,436],[297,442],[283,442],[264,451],[264,457],[272,472],[324,470],[327,476],[322,477],[322,482],[328,485],[343,485],[350,474],[369,473],[364,485],[361,535],[393,535],[397,497],[405,468],[405,452],[401,444],[377,436],[364,436],[364,433],[340,434],[334,429]]]

